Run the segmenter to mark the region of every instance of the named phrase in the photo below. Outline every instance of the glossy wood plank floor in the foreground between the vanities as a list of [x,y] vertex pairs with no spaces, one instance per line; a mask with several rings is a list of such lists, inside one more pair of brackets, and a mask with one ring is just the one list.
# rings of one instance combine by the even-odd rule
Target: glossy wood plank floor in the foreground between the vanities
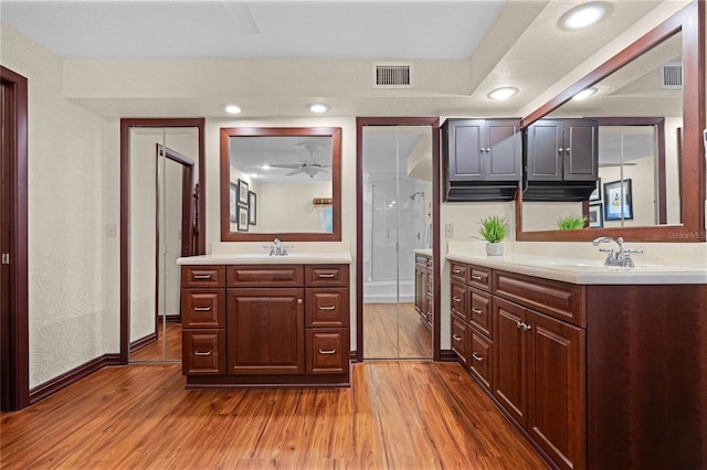
[[350,388],[186,391],[105,367],[0,415],[3,469],[546,469],[456,363],[365,362]]

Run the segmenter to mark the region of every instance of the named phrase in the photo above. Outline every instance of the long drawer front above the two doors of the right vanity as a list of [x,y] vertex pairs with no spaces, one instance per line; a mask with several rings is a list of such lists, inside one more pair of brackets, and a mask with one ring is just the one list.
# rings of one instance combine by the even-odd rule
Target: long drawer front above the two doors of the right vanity
[[583,286],[494,270],[494,293],[577,327],[587,327]]

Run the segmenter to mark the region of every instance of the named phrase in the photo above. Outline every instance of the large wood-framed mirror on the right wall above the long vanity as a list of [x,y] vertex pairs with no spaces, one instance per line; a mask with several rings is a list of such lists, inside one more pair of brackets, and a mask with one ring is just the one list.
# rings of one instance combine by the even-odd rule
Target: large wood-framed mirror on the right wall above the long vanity
[[[539,118],[598,118],[599,181],[579,203],[523,202],[519,194],[518,241],[589,241],[600,233],[705,241],[701,9],[689,4],[523,120],[526,127]],[[589,88],[589,98],[572,99]],[[589,227],[557,229],[566,215],[588,215]]]

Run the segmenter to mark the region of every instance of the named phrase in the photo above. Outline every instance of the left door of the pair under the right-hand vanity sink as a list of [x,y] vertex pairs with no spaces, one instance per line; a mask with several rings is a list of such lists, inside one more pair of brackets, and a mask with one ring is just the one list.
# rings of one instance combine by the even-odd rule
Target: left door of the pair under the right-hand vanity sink
[[521,425],[527,423],[526,309],[494,297],[494,396]]

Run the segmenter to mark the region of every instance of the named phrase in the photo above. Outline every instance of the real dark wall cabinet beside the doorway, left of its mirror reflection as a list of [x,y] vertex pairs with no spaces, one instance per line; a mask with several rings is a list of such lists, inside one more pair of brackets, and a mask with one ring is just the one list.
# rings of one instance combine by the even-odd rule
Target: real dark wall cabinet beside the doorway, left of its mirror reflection
[[521,173],[519,119],[449,119],[442,126],[445,201],[509,201]]

